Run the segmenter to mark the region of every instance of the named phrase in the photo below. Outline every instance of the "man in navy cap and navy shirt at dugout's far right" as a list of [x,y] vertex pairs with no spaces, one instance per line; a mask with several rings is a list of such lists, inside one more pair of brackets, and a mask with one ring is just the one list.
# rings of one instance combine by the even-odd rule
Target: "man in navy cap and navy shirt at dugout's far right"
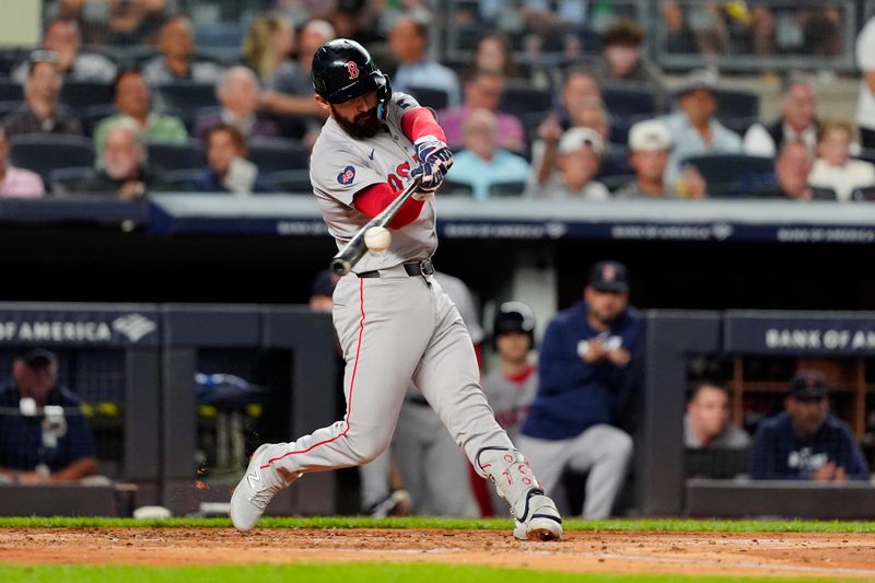
[[760,422],[754,438],[755,480],[868,480],[851,429],[829,412],[829,386],[819,371],[790,381],[785,411]]

